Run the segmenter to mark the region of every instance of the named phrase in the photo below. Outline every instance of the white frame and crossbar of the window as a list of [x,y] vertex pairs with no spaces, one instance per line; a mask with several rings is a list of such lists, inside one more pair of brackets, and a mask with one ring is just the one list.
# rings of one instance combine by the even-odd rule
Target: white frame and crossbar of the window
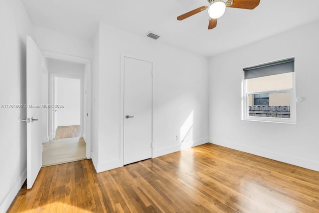
[[[294,58],[295,59],[295,58]],[[269,62],[273,63],[273,62]],[[295,62],[294,62],[295,63]],[[245,79],[245,71],[242,69],[242,120],[245,121],[260,121],[260,122],[271,122],[271,123],[285,123],[285,124],[296,124],[296,68],[292,72],[292,86],[293,88],[281,89],[281,90],[263,90],[247,92],[247,79]],[[258,117],[249,116],[249,98],[248,95],[264,94],[264,93],[290,93],[290,118],[273,118],[273,117]]]

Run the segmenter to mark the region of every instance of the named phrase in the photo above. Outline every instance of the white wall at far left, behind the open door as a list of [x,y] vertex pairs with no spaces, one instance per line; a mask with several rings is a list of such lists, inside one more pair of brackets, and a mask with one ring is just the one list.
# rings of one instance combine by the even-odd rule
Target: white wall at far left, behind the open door
[[[0,105],[26,104],[26,35],[32,26],[20,0],[0,1]],[[25,108],[0,107],[0,212],[26,179]]]

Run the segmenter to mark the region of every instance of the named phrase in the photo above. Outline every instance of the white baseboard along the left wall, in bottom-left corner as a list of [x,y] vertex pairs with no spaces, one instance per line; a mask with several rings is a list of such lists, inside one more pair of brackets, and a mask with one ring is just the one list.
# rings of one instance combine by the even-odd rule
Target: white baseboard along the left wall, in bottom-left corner
[[23,171],[22,175],[17,180],[17,182],[14,184],[14,186],[10,189],[10,191],[7,193],[7,195],[1,201],[0,213],[5,213],[8,210],[8,208],[10,207],[15,196],[18,194],[18,192],[21,189],[25,180],[26,180],[26,168]]

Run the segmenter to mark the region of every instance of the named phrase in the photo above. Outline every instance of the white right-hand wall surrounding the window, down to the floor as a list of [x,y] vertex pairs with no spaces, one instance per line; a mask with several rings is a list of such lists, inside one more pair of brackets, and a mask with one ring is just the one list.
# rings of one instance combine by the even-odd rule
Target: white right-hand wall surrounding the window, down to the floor
[[[214,56],[209,61],[211,143],[319,171],[319,22]],[[241,120],[242,68],[296,57],[297,124]]]

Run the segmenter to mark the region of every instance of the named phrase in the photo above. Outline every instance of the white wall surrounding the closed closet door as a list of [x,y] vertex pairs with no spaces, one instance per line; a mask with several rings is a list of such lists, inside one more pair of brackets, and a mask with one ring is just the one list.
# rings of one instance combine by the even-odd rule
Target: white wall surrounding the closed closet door
[[[208,140],[207,58],[165,46],[146,36],[137,36],[107,24],[99,29],[99,69],[93,69],[93,100],[98,104],[97,171],[120,167],[121,53],[153,61],[154,146],[153,157],[180,150],[175,136],[189,115],[192,139],[188,146]],[[98,76],[98,77],[96,77]],[[93,104],[94,105],[94,104]],[[187,147],[186,144],[184,144]]]

